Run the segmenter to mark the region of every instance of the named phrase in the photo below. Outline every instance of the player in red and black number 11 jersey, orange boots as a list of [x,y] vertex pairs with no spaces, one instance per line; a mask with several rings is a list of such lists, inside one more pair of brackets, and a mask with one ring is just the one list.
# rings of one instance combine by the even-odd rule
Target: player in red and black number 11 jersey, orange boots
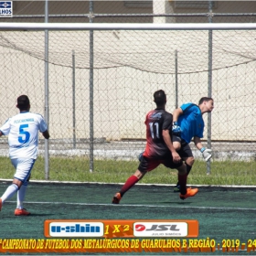
[[168,168],[177,169],[180,184],[181,199],[193,197],[197,194],[197,188],[187,188],[187,168],[172,144],[173,115],[165,111],[165,91],[154,93],[156,109],[146,114],[146,147],[138,169],[130,176],[121,190],[112,198],[113,204],[119,204],[124,193],[133,187],[143,176],[158,165],[163,164]]

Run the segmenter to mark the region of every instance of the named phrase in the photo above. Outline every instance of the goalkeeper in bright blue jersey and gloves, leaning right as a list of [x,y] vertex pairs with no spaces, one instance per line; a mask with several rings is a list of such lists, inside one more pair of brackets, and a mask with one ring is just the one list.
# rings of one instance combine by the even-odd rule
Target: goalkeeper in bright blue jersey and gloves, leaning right
[[[193,139],[197,149],[202,153],[205,161],[211,157],[211,150],[207,149],[201,143],[205,123],[203,114],[212,112],[214,101],[212,98],[203,97],[199,100],[198,105],[194,103],[184,103],[173,112],[172,140],[176,152],[182,157],[187,165],[187,175],[194,164],[189,143]],[[179,183],[176,184],[174,192],[179,192]]]

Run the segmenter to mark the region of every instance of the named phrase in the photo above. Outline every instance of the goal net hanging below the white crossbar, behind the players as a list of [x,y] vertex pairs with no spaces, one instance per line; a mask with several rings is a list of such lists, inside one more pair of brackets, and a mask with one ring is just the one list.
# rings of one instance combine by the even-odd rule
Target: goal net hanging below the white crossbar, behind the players
[[[220,169],[232,165],[240,174],[240,181],[234,178],[232,183],[247,183],[243,176],[253,171],[256,157],[255,30],[214,29],[209,37],[208,29],[197,27],[93,30],[72,25],[73,29],[48,30],[46,59],[46,32],[35,26],[36,30],[0,27],[0,123],[17,113],[20,94],[29,96],[31,112],[44,114],[48,80],[51,179],[73,178],[58,176],[63,169],[89,172],[91,154],[92,176],[108,172],[108,165],[133,174],[137,155],[144,151],[145,114],[155,108],[154,91],[162,89],[168,112],[203,96],[214,99],[210,118],[204,115],[203,138],[213,150],[211,174],[220,179]],[[206,174],[200,152],[191,147],[201,164],[197,168]],[[8,155],[5,137],[0,152]]]

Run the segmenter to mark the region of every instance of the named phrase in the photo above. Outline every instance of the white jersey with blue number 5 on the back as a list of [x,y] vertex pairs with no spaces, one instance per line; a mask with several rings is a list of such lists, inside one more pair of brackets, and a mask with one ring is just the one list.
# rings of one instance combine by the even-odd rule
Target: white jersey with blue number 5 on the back
[[10,117],[0,127],[4,135],[8,135],[9,156],[15,158],[37,159],[38,131],[48,130],[47,123],[38,113],[20,112]]

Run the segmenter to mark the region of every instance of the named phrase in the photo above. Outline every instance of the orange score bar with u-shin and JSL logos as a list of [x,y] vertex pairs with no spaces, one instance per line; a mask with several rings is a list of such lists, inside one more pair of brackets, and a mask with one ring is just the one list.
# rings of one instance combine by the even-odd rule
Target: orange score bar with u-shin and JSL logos
[[44,228],[47,238],[196,238],[199,232],[191,219],[48,219]]

